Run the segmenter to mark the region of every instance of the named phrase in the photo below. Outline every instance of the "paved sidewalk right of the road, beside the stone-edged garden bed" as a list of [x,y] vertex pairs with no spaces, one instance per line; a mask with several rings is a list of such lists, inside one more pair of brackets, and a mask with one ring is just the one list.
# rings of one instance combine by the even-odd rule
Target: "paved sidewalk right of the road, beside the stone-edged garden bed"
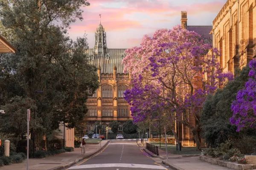
[[164,160],[163,163],[175,170],[231,170],[227,167],[221,167],[205,161],[201,161],[199,156],[179,156],[180,155],[168,155],[168,160]]

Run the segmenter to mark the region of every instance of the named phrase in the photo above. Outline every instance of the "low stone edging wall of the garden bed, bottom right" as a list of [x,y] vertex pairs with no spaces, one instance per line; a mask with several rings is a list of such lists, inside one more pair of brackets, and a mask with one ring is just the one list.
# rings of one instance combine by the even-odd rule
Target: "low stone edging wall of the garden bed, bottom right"
[[211,164],[220,165],[222,167],[229,167],[234,170],[253,170],[256,168],[255,164],[237,164],[235,162],[228,162],[220,160],[220,158],[212,158],[210,156],[199,156],[200,160],[209,162]]

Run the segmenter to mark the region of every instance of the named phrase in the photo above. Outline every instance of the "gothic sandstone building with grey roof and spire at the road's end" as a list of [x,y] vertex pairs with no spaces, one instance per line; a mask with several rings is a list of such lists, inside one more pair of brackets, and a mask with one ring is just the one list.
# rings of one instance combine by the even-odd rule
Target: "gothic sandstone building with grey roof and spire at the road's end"
[[94,48],[88,49],[87,53],[91,64],[98,68],[100,86],[86,103],[86,129],[94,130],[96,121],[102,124],[103,129],[111,121],[118,121],[119,131],[122,131],[122,124],[132,119],[129,104],[124,99],[124,92],[131,82],[129,74],[123,73],[125,49],[108,49],[106,32],[100,23],[95,32]]

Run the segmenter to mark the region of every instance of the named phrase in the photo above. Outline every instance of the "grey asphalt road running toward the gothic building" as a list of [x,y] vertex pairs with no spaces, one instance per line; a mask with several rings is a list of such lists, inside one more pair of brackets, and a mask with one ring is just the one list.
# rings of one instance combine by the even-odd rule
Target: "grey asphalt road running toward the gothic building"
[[135,141],[111,141],[96,156],[70,167],[69,170],[169,170],[157,164]]

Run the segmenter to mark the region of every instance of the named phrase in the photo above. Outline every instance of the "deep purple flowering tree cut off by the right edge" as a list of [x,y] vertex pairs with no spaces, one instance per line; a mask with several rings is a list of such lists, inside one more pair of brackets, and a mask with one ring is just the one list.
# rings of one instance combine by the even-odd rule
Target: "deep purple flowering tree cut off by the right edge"
[[237,132],[244,127],[256,128],[256,60],[249,63],[249,80],[244,89],[239,90],[231,109],[233,116],[230,123],[236,125]]

